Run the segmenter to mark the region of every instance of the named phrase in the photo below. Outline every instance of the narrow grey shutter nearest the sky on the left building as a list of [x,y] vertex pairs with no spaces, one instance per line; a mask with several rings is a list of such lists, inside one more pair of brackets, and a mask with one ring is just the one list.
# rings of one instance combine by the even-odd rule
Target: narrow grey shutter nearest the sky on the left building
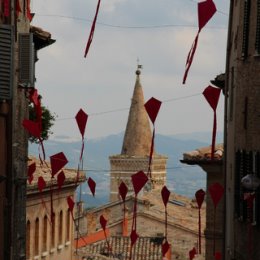
[[32,33],[19,34],[19,59],[19,83],[25,84],[26,87],[34,87],[35,59]]

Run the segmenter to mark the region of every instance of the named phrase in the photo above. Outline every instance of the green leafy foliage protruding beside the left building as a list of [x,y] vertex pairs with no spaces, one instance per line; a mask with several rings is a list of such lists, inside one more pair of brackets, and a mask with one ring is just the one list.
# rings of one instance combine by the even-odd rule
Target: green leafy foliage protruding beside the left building
[[[42,108],[42,140],[48,140],[53,132],[51,131],[51,127],[54,125],[54,121],[56,119],[56,115],[52,114],[48,108],[45,106],[41,106]],[[29,119],[32,121],[36,120],[36,112],[34,106],[29,105]],[[29,137],[29,141],[31,143],[39,143],[39,140],[34,136]]]

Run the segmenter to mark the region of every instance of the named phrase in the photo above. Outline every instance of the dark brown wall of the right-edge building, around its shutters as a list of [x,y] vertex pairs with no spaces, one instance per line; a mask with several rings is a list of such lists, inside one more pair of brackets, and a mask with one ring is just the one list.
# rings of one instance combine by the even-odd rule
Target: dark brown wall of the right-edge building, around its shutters
[[[249,6],[248,37],[244,35],[246,4]],[[235,153],[239,150],[252,152],[260,149],[260,53],[256,50],[257,41],[260,40],[257,33],[257,26],[258,30],[260,26],[257,23],[260,15],[259,1],[232,1],[231,7],[225,87],[226,259],[259,259],[259,223],[252,225],[241,221],[235,214],[235,205],[243,203],[243,194],[235,197],[235,182],[240,183]],[[245,44],[248,44],[247,55],[242,53]],[[259,197],[259,189],[256,196]],[[259,203],[258,199],[256,208],[259,208]]]

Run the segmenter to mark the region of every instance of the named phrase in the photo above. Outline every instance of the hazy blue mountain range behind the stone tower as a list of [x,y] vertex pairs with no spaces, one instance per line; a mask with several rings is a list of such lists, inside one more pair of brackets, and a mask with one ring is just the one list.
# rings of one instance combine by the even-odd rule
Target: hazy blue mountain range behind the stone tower
[[[222,142],[222,133],[217,135],[217,143]],[[98,139],[86,139],[83,159],[83,169],[97,183],[96,196],[90,195],[86,184],[81,185],[81,198],[86,207],[101,205],[108,202],[109,197],[109,159],[110,155],[120,154],[123,142],[123,133],[109,135]],[[210,132],[196,132],[177,134],[173,136],[156,135],[155,149],[159,154],[167,155],[167,187],[169,190],[193,197],[195,192],[206,186],[206,173],[198,166],[182,164],[180,160],[184,152],[211,144]],[[60,136],[44,143],[46,157],[63,152],[69,163],[67,168],[77,168],[81,141],[73,141],[68,137]],[[38,145],[30,144],[29,153],[38,155]]]

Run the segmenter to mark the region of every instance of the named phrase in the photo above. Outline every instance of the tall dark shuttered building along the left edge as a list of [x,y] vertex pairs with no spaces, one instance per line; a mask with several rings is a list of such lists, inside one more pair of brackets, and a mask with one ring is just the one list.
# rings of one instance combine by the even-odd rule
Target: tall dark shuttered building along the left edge
[[[20,8],[18,8],[20,7]],[[0,259],[25,259],[28,136],[22,121],[33,87],[30,1],[0,3]]]

